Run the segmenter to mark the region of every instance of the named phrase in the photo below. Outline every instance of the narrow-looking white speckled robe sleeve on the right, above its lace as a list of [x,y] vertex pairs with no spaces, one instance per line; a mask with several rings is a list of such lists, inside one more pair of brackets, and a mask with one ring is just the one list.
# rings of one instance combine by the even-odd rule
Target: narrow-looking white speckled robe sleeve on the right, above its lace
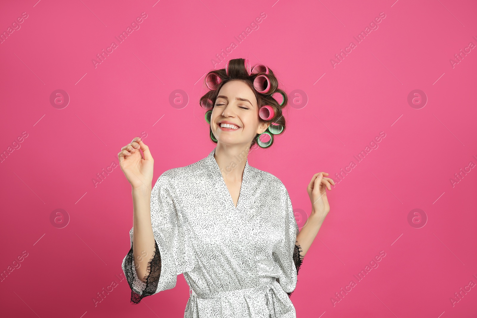
[[281,231],[283,238],[273,248],[273,258],[279,266],[279,281],[283,290],[291,296],[297,284],[298,269],[301,266],[301,246],[296,241],[299,233],[298,225],[293,214],[290,195],[283,184],[280,184]]

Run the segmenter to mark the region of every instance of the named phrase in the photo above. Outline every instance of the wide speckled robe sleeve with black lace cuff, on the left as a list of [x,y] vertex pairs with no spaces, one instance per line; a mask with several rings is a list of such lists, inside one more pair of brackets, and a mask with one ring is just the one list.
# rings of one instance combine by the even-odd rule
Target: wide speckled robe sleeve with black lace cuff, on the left
[[195,263],[185,215],[177,207],[174,182],[166,171],[151,191],[151,225],[155,251],[148,262],[145,280],[137,277],[133,255],[133,230],[129,231],[131,249],[124,257],[123,271],[131,287],[131,303],[176,286],[177,275],[191,270]]

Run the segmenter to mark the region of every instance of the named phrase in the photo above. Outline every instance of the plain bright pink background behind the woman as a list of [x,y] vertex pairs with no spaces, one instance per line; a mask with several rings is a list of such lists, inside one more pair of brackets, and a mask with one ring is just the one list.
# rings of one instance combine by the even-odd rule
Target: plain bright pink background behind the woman
[[[233,58],[270,66],[294,101],[286,133],[249,163],[279,177],[298,212],[310,213],[313,174],[337,181],[291,297],[297,316],[476,317],[477,287],[467,286],[477,283],[477,169],[466,168],[477,164],[476,49],[449,62],[477,44],[475,1],[36,1],[3,1],[0,10],[1,32],[28,14],[0,44],[0,151],[20,147],[0,164],[0,270],[18,267],[0,283],[5,317],[183,317],[182,275],[174,289],[129,303],[119,277],[131,188],[119,166],[92,180],[141,134],[154,182],[204,158],[215,144],[198,104],[203,76]],[[140,28],[95,68],[96,54],[142,12]],[[237,41],[261,12],[256,30]],[[378,29],[358,44],[353,36],[381,12]],[[232,41],[237,47],[219,60]],[[351,41],[356,47],[333,68]],[[57,89],[71,99],[65,108],[50,103]],[[420,109],[407,102],[415,89],[428,99]],[[170,102],[175,90],[182,99]],[[353,156],[380,132],[358,162]],[[349,173],[338,183],[341,169]],[[419,219],[408,222],[416,208],[427,218],[420,228]],[[66,211],[57,223],[68,215],[67,226],[53,226],[55,209]],[[381,251],[358,282],[353,275]],[[351,280],[356,286],[336,297]],[[470,291],[453,306],[460,288]]]

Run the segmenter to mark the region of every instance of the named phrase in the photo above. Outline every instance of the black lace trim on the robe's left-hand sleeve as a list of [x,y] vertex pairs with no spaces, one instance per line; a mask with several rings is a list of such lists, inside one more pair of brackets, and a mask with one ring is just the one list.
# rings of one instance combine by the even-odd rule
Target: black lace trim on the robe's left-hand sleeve
[[126,255],[126,260],[124,263],[124,268],[125,268],[125,275],[126,275],[126,280],[129,284],[129,287],[131,287],[131,303],[132,304],[139,304],[141,299],[143,299],[146,296],[151,296],[156,293],[157,290],[157,285],[159,284],[159,277],[161,277],[161,253],[159,252],[159,247],[157,246],[156,240],[154,240],[154,245],[156,250],[154,251],[154,255],[152,259],[147,263],[147,268],[146,268],[146,274],[145,274],[145,288],[144,291],[142,292],[142,295],[139,295],[138,293],[135,292],[135,289],[133,288],[133,281],[134,281],[134,273],[133,273],[133,267],[134,267],[134,254],[133,254],[133,246],[131,244],[131,249]]

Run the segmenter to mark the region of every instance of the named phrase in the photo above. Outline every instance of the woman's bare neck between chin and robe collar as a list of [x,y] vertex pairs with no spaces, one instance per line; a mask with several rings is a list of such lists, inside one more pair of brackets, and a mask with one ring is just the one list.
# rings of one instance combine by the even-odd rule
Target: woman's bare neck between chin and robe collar
[[249,155],[248,146],[217,144],[214,158],[224,179],[241,181]]

